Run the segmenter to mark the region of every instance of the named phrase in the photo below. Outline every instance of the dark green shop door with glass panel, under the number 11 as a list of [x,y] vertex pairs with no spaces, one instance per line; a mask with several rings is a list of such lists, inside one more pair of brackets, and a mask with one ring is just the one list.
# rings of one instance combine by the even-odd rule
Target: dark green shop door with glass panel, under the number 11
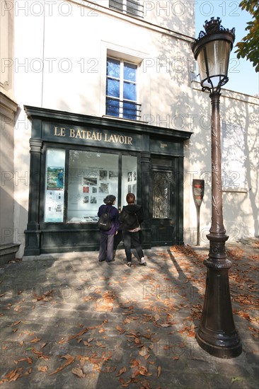
[[174,243],[173,171],[162,168],[153,169],[152,182],[152,245],[172,245]]

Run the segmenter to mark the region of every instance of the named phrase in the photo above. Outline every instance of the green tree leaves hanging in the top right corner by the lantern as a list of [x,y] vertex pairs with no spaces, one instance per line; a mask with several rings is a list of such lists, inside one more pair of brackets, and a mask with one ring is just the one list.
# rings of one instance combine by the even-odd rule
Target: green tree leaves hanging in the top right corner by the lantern
[[242,10],[246,10],[253,16],[252,21],[246,23],[248,34],[241,42],[236,44],[238,58],[249,59],[255,66],[255,71],[259,71],[259,3],[258,0],[242,0],[239,4]]

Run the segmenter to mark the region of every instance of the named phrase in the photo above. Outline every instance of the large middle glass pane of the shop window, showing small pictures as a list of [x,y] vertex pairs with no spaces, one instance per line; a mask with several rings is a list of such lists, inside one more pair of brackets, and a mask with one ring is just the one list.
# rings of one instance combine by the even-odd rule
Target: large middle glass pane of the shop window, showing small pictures
[[[103,199],[117,199],[119,156],[89,151],[69,151],[67,222],[96,222]],[[116,207],[116,204],[115,204]]]

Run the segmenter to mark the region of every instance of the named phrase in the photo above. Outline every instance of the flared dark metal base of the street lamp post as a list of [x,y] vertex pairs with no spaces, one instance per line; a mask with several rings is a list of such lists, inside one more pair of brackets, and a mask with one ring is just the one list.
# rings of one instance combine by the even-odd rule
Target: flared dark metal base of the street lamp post
[[211,355],[219,358],[235,358],[242,352],[241,339],[234,325],[229,291],[229,268],[226,258],[224,234],[210,233],[209,257],[204,261],[207,267],[205,303],[202,310],[197,343]]

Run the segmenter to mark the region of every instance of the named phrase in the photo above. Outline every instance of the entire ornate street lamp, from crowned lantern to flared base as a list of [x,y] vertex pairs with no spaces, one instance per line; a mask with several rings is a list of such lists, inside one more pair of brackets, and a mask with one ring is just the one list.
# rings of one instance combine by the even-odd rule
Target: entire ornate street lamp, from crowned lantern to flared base
[[219,97],[221,86],[229,81],[229,55],[235,40],[235,29],[225,29],[221,19],[205,21],[205,31],[192,43],[192,52],[200,71],[202,91],[209,91],[212,103],[212,226],[209,240],[205,303],[197,343],[209,354],[234,358],[241,354],[242,344],[234,325],[229,291],[231,261],[226,257],[225,243],[229,236],[223,224],[221,143]]

